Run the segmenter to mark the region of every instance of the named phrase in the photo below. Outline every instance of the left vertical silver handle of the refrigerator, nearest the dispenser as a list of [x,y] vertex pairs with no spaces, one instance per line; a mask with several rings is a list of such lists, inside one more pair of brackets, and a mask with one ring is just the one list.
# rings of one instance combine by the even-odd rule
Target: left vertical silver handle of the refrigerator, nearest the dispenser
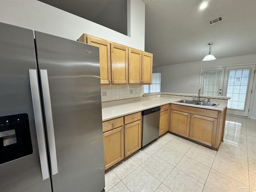
[[29,69],[30,89],[34,110],[34,118],[36,125],[36,137],[38,143],[39,159],[41,164],[42,178],[46,180],[49,178],[48,162],[46,156],[46,146],[44,139],[44,126],[42,120],[42,111],[40,105],[40,96],[38,88],[38,78],[36,69]]

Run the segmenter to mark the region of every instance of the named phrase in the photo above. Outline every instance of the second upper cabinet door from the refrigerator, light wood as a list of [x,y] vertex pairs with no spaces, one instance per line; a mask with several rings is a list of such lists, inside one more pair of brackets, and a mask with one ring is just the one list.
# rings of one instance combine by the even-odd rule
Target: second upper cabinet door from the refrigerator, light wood
[[111,43],[112,84],[128,83],[128,48]]

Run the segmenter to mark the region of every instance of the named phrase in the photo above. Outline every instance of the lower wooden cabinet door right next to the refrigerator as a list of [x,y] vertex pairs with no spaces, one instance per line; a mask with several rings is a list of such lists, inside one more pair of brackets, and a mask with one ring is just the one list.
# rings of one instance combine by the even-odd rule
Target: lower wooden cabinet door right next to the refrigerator
[[103,133],[105,170],[124,158],[124,127]]

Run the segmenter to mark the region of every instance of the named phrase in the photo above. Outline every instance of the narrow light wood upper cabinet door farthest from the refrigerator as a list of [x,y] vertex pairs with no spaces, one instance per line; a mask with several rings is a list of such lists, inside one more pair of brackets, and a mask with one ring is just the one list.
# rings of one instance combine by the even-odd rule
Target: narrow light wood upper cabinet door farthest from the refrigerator
[[153,54],[142,52],[142,83],[152,83]]

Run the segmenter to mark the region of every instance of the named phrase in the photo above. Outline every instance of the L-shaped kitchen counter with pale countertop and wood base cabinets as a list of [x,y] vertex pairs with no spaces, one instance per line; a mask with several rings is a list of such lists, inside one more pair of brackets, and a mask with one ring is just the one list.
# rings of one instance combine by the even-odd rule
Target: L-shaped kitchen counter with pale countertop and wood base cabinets
[[[141,148],[141,111],[157,106],[164,106],[164,108],[167,106],[166,110],[161,108],[161,114],[165,113],[166,116],[162,119],[160,117],[160,130],[164,125],[165,132],[171,132],[184,139],[218,150],[223,140],[226,108],[230,97],[200,96],[200,100],[208,102],[209,99],[210,103],[218,103],[214,107],[177,102],[193,99],[198,99],[198,95],[159,92],[139,98],[102,102],[105,169]],[[133,131],[127,132],[129,130],[127,125]],[[161,132],[160,135],[163,133]],[[128,140],[131,142],[127,143]],[[128,148],[130,150],[127,151]]]

